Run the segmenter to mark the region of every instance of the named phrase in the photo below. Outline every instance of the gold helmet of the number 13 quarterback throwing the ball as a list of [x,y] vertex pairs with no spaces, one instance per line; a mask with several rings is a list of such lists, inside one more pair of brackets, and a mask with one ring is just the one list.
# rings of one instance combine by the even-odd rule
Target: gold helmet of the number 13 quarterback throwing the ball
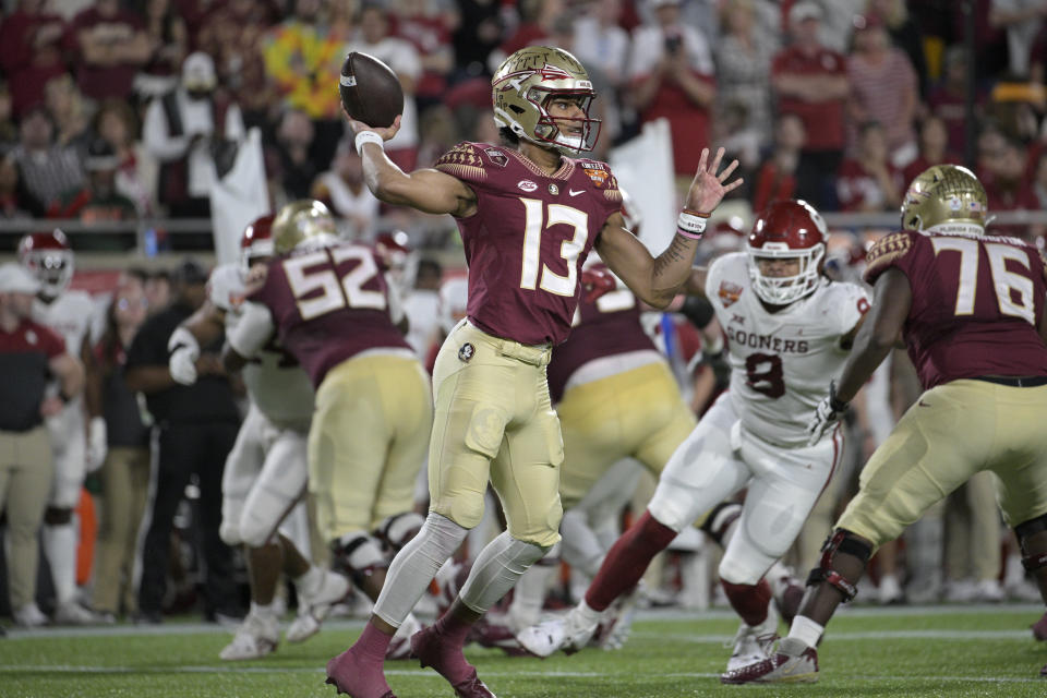
[[[553,97],[578,100],[583,119],[562,119],[546,110]],[[600,120],[589,118],[597,93],[589,73],[574,56],[549,46],[529,46],[504,61],[491,79],[494,120],[518,137],[538,145],[552,146],[565,155],[591,151],[600,137]],[[565,127],[580,134],[565,133]]]

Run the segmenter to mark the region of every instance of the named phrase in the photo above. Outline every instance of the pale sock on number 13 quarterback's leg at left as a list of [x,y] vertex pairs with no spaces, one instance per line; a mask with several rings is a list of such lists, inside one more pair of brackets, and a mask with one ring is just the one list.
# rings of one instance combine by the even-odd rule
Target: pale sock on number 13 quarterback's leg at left
[[374,603],[374,614],[395,628],[425,593],[436,570],[450,557],[469,534],[445,516],[429,513],[422,530],[397,553],[385,576],[382,593]]

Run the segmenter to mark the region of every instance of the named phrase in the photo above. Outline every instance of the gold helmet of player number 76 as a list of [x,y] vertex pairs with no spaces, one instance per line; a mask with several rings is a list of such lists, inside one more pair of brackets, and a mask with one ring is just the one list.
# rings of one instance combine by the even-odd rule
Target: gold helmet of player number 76
[[902,202],[902,227],[982,234],[988,204],[974,172],[959,165],[935,165],[908,185]]

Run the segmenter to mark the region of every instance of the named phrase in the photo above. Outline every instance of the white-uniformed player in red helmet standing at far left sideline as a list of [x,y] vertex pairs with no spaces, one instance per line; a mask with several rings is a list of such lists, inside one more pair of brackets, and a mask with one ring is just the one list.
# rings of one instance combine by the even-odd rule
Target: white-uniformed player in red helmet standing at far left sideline
[[[34,232],[19,243],[19,262],[40,281],[40,292],[33,303],[33,320],[55,330],[65,340],[65,350],[80,357],[84,369],[94,366],[91,351],[91,321],[95,305],[84,291],[70,290],[73,279],[73,250],[65,234]],[[55,388],[57,393],[57,387]],[[55,622],[82,625],[97,621],[76,601],[77,521],[73,509],[88,467],[95,470],[106,457],[106,422],[96,395],[91,402],[92,419],[86,420],[85,399],[71,400],[61,412],[47,420],[55,454],[55,484],[44,517],[44,552],[51,567],[55,583]],[[89,443],[88,443],[89,434]]]

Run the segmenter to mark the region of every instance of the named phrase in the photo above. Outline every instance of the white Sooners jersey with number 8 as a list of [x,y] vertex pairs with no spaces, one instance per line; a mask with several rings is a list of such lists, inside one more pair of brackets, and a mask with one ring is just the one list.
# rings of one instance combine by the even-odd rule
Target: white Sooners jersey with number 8
[[771,444],[806,444],[815,408],[847,357],[840,339],[869,309],[865,289],[823,278],[809,296],[771,313],[753,290],[746,254],[734,252],[709,267],[706,296],[727,334],[726,399],[742,426]]

